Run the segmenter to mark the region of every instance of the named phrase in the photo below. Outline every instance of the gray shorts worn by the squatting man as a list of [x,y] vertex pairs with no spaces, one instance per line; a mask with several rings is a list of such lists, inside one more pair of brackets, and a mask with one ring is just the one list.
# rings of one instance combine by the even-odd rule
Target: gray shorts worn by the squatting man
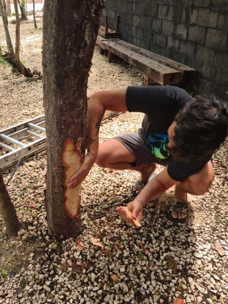
[[160,161],[157,159],[144,144],[143,131],[141,128],[136,133],[124,134],[122,136],[114,137],[114,139],[122,143],[136,158],[136,163],[130,163],[132,167],[139,167],[151,163],[163,166],[168,165],[168,161]]

